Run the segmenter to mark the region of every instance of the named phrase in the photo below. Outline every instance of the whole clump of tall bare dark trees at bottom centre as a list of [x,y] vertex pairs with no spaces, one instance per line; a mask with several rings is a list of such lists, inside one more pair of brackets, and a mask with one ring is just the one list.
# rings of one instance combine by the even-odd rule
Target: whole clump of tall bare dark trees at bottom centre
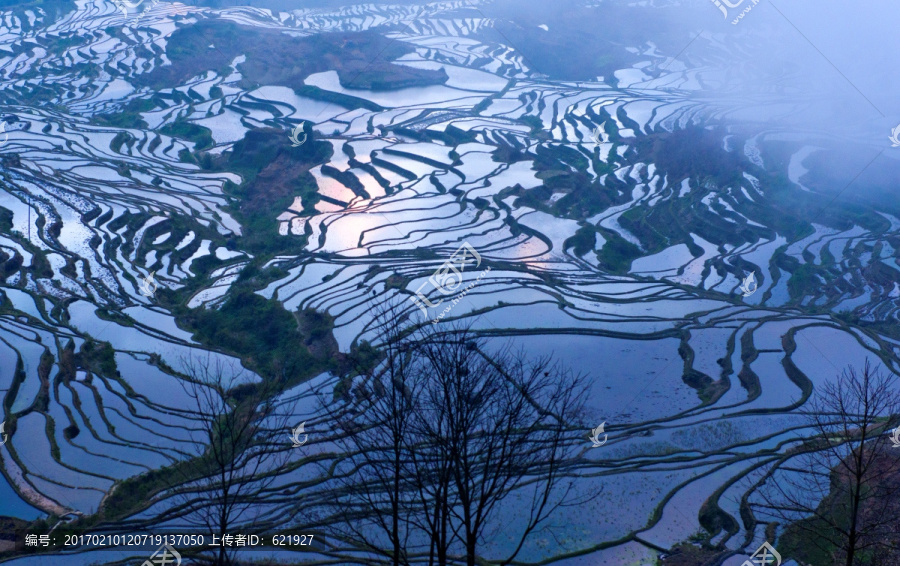
[[410,540],[418,546],[423,535],[428,564],[474,565],[501,502],[515,492],[526,503],[515,526],[504,523],[514,544],[498,564],[509,564],[572,502],[562,480],[583,442],[571,428],[583,379],[550,358],[488,352],[462,327],[404,335],[399,317],[382,314],[382,361],[358,379],[361,401],[342,441],[352,474],[341,501],[365,517],[348,529],[372,550],[378,537],[389,541],[381,553],[395,565],[410,562]]

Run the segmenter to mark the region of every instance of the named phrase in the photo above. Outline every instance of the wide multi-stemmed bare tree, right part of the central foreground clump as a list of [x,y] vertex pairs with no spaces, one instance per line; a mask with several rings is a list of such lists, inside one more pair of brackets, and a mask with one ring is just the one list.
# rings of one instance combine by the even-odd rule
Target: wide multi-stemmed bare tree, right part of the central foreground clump
[[432,509],[441,509],[440,534],[459,538],[469,566],[480,560],[490,520],[498,520],[500,503],[513,492],[529,497],[517,514],[518,529],[517,521],[503,523],[514,546],[496,562],[502,565],[515,559],[553,511],[572,503],[571,481],[565,487],[561,482],[583,442],[571,428],[585,399],[582,376],[550,357],[529,359],[509,346],[494,352],[485,346],[466,329],[424,340],[428,379],[415,425],[432,447],[416,468],[438,480],[442,505]]

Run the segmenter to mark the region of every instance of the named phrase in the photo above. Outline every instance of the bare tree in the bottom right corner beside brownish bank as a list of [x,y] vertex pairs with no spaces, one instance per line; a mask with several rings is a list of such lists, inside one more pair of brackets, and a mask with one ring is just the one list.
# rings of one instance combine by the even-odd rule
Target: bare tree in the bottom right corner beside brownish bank
[[863,562],[900,544],[900,458],[888,432],[900,425],[900,381],[848,368],[814,394],[805,412],[815,433],[763,479],[764,516],[791,523],[834,564]]

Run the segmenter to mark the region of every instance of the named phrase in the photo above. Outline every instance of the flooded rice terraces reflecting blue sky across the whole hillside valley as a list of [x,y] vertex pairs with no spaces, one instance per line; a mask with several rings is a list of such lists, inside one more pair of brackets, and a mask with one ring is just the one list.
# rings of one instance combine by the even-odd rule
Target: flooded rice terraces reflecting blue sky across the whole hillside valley
[[[176,317],[221,308],[258,253],[240,247],[248,228],[229,187],[241,171],[187,158],[200,142],[177,128],[207,128],[205,151],[217,156],[254,129],[287,140],[305,124],[330,157],[309,169],[314,196],[267,212],[289,251],[259,266],[278,276],[258,297],[327,313],[348,353],[380,343],[380,306],[436,319],[444,306],[423,312],[410,299],[422,289],[438,302],[429,277],[468,243],[482,263],[463,286],[477,284],[438,326],[469,324],[491,344],[554,354],[589,376],[571,473],[596,497],[559,510],[552,524],[564,535],[530,538],[520,560],[650,563],[711,510],[733,525],[714,542],[741,551],[765,539],[744,516],[754,481],[803,433],[798,410],[814,388],[867,357],[900,371],[900,341],[883,331],[900,307],[900,219],[875,207],[856,221],[786,218],[785,195],[813,190],[804,163],[816,146],[723,126],[727,110],[696,96],[702,67],[663,65],[671,54],[645,45],[616,86],[553,80],[466,4],[273,13],[159,2],[137,28],[101,0],[77,0],[55,21],[41,9],[3,13],[0,393],[15,427],[0,447],[0,514],[89,516],[121,482],[202,450],[176,374],[198,353],[240,361],[209,352]],[[396,64],[447,79],[392,90],[346,88],[336,71],[304,79],[345,107],[249,84],[237,57],[176,87],[139,86],[169,64],[177,26],[211,17],[295,37],[376,31],[411,46]],[[160,104],[141,110],[151,97]],[[98,119],[126,107],[143,125]],[[720,183],[654,162],[647,144],[694,139],[679,134],[714,137],[735,174]],[[790,186],[770,186],[785,151]],[[744,297],[751,272],[758,290]],[[140,293],[151,274],[177,305]],[[100,369],[112,362],[115,372]],[[342,457],[334,419],[346,408],[314,400],[333,386],[324,372],[283,395],[310,442],[278,471],[257,520],[322,533],[327,543],[303,554],[310,563],[365,563],[328,536],[338,520],[329,470]],[[609,442],[591,450],[586,433],[603,421]],[[122,524],[178,525],[177,505],[158,494]],[[514,521],[515,504],[505,506],[493,527]],[[486,554],[508,545],[495,536]],[[128,556],[80,549],[54,563]]]

